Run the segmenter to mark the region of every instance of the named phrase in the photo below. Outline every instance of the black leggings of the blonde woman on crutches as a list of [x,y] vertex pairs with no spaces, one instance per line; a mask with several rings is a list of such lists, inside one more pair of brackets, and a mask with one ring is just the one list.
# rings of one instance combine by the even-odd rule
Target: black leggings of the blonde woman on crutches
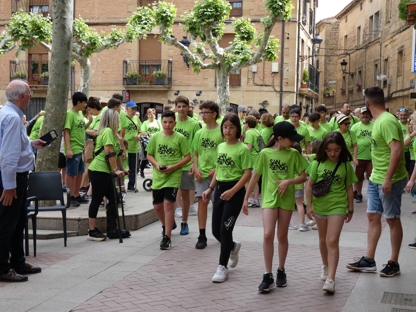
[[[97,218],[98,208],[104,198],[115,203],[113,181],[109,173],[88,170],[88,178],[92,186],[92,199],[89,203],[88,217]],[[117,206],[117,204],[115,204]]]

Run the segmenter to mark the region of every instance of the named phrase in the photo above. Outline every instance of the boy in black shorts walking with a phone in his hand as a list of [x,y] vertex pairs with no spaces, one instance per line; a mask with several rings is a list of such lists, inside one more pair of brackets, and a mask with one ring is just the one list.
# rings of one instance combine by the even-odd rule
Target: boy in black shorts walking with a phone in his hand
[[173,203],[181,186],[181,167],[191,161],[188,142],[174,130],[175,119],[173,111],[164,111],[163,130],[151,136],[146,147],[147,160],[153,165],[153,208],[163,228],[161,249],[171,249],[171,231],[175,220]]

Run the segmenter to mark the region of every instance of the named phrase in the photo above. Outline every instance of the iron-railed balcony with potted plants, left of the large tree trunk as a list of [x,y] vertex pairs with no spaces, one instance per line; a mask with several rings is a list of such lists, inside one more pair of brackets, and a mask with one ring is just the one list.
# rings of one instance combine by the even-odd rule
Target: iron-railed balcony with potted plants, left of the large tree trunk
[[49,72],[49,67],[50,61],[10,61],[10,81],[20,78],[30,85],[47,87],[49,75],[44,73]]

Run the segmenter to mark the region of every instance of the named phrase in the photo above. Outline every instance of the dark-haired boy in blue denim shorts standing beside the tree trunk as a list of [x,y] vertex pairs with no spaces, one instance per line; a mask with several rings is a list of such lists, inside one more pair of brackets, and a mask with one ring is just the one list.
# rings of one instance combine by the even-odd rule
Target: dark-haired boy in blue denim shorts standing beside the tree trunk
[[82,174],[85,171],[85,163],[82,161],[82,149],[85,139],[85,120],[82,110],[87,103],[87,96],[82,92],[72,95],[72,108],[67,110],[64,122],[64,155],[66,156],[67,177],[66,185],[70,192],[71,206],[79,206],[80,203],[89,203],[79,196]]

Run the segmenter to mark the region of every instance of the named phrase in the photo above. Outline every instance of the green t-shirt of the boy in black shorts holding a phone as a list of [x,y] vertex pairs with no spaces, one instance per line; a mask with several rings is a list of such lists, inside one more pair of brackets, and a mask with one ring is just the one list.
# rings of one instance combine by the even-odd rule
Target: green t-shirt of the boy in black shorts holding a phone
[[[178,163],[184,156],[191,153],[188,142],[182,134],[173,131],[168,138],[162,135],[162,132],[156,132],[151,136],[146,151],[153,155],[155,160],[162,166],[169,166]],[[159,172],[156,166],[153,166],[153,184],[154,190],[161,188],[181,186],[182,168],[177,168],[171,173]]]

